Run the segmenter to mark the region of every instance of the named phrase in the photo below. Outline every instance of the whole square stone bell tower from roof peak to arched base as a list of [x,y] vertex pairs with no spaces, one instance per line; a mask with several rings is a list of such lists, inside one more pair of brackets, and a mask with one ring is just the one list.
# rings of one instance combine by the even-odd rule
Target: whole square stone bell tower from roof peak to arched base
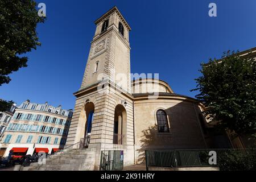
[[97,150],[95,166],[98,167],[101,151],[104,150],[121,150],[124,164],[133,164],[131,28],[117,7],[110,9],[94,23],[96,32],[81,88],[74,93],[76,105],[66,146],[89,138],[86,147]]

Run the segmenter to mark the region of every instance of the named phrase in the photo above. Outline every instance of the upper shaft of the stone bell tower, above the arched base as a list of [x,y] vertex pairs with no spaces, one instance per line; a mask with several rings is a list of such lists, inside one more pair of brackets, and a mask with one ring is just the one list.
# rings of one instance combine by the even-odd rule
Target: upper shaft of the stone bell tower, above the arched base
[[130,26],[117,7],[113,7],[94,23],[96,32],[80,90],[109,79],[130,92]]

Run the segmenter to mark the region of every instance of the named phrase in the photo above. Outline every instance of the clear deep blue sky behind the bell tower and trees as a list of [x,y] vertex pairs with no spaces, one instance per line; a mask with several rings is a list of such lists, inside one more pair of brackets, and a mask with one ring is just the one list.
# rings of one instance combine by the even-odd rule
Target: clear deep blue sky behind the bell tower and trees
[[[0,97],[20,104],[75,105],[94,20],[116,5],[130,24],[131,72],[159,73],[175,93],[195,97],[200,63],[228,49],[256,47],[256,1],[57,1],[43,0],[47,20],[39,24],[42,46],[27,53],[28,67],[11,74]],[[208,16],[210,2],[217,17]]]

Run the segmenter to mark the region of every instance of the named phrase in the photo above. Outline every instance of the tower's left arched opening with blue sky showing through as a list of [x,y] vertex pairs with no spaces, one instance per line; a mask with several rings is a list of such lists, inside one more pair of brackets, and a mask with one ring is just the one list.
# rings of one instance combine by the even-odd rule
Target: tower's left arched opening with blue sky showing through
[[85,105],[85,114],[86,114],[86,123],[85,123],[85,134],[84,137],[90,136],[92,131],[92,122],[94,115],[94,104],[92,102],[88,102]]

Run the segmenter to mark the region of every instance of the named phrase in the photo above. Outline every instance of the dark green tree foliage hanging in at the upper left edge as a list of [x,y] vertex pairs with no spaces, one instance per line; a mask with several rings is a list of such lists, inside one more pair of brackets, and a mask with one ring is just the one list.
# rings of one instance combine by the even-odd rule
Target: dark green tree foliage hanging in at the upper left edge
[[[0,1],[0,86],[11,81],[10,73],[27,67],[28,58],[21,55],[40,46],[36,25],[44,20],[33,0]],[[10,103],[0,100],[0,108]]]

